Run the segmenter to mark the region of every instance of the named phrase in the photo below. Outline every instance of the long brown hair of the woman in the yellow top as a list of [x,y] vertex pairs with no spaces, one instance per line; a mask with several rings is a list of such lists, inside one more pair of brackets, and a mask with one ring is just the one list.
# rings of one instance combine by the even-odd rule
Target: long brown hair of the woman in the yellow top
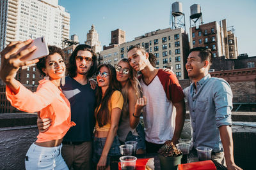
[[[109,122],[110,113],[108,110],[109,100],[111,101],[111,96],[115,90],[120,90],[120,83],[116,80],[116,71],[115,67],[111,64],[101,64],[97,71],[100,70],[101,67],[107,67],[109,70],[109,87],[106,90],[106,93],[102,97],[102,89],[99,87],[96,92],[96,111],[95,118],[98,121],[99,127],[103,127]],[[121,96],[120,96],[121,97]],[[100,107],[100,108],[99,108]]]

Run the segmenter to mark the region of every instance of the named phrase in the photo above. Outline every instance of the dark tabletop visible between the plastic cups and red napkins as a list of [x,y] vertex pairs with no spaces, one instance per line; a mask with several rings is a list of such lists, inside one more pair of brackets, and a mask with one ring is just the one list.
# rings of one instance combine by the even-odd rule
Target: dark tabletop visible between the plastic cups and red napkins
[[[120,162],[119,158],[121,156],[122,155],[110,157],[110,169],[111,170],[118,170],[118,162]],[[158,153],[146,153],[146,154],[143,154],[143,155],[136,155],[136,157],[138,159],[140,159],[140,158],[154,158],[155,170],[161,170],[160,160],[159,160],[159,157],[158,157]],[[188,155],[188,163],[189,162],[198,162],[197,155],[195,155],[193,152],[190,152],[189,155]],[[223,165],[219,164],[218,162],[216,162],[214,160],[212,160],[212,162],[214,162],[217,170],[227,170],[226,167],[224,167]]]

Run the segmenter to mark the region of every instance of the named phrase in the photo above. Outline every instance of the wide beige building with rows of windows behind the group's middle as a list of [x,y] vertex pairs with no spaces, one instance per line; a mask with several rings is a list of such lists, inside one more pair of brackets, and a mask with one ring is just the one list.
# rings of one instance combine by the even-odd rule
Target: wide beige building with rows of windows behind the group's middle
[[143,36],[136,37],[133,41],[120,45],[106,47],[100,52],[100,63],[110,63],[116,66],[118,60],[127,57],[127,50],[132,45],[144,46],[147,52],[156,55],[157,68],[172,68],[179,79],[187,78],[185,69],[186,57],[188,57],[188,34],[184,29],[158,29],[147,32]]

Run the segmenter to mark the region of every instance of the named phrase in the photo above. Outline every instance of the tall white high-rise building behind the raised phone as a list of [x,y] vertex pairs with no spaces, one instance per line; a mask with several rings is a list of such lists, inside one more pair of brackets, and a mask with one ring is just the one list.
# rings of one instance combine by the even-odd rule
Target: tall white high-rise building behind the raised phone
[[69,38],[70,14],[58,0],[1,0],[0,11],[0,50],[11,41],[40,36],[61,47]]

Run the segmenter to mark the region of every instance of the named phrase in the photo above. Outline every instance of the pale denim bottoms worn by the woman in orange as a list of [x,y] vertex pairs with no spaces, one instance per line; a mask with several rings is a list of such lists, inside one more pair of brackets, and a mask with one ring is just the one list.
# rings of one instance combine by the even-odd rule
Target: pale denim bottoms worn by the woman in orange
[[56,147],[43,147],[33,143],[26,153],[26,169],[65,169],[68,167],[61,156],[62,144]]

